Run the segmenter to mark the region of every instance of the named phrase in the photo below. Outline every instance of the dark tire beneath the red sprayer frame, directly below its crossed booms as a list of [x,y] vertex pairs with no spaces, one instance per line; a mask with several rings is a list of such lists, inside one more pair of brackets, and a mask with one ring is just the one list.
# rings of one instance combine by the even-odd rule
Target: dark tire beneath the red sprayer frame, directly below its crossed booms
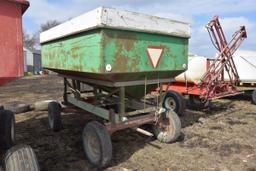
[[210,101],[200,99],[199,96],[189,95],[189,106],[192,109],[205,109],[209,107]]

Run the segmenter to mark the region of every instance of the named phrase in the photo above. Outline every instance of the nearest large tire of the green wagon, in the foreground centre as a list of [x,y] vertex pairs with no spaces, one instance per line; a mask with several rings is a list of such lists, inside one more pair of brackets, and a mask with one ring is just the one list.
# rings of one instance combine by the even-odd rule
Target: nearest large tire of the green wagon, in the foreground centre
[[112,159],[112,143],[106,127],[97,121],[89,122],[82,139],[89,162],[98,168],[106,167]]

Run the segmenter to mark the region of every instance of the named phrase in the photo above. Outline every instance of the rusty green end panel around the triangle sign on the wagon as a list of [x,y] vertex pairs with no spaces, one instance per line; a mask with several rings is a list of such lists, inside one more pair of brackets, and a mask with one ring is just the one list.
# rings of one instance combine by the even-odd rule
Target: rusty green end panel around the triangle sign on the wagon
[[[109,73],[183,71],[188,58],[188,39],[169,35],[104,29],[103,57]],[[148,47],[162,54],[152,66]]]

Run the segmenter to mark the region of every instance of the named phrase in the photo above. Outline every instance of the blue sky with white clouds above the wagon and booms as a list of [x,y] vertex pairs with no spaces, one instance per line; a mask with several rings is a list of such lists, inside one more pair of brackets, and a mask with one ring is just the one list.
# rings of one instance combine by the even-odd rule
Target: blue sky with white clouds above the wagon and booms
[[214,15],[230,40],[231,35],[245,25],[248,38],[241,49],[256,50],[255,0],[30,0],[23,18],[27,32],[37,31],[47,20],[66,20],[99,6],[183,20],[191,23],[189,51],[211,57],[216,53],[204,26]]

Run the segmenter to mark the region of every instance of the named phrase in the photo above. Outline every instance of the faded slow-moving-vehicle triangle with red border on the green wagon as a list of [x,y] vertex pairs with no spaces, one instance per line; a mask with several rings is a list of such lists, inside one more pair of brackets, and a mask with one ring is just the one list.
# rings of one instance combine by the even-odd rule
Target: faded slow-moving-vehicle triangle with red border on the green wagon
[[153,68],[156,68],[162,58],[163,55],[163,47],[161,46],[148,46],[147,47],[147,55],[150,61],[150,64]]

